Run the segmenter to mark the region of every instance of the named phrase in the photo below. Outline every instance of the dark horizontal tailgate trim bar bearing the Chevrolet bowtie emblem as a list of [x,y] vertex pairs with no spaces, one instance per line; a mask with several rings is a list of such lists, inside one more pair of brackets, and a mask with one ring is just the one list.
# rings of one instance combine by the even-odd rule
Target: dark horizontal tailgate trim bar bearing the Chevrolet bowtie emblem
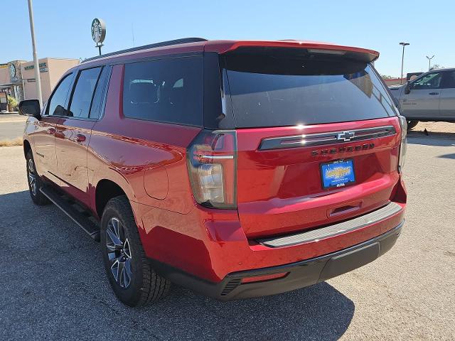
[[324,144],[377,139],[378,137],[395,134],[397,134],[397,131],[395,131],[394,126],[375,126],[374,128],[331,131],[330,133],[270,137],[261,141],[259,151],[304,146],[322,146]]

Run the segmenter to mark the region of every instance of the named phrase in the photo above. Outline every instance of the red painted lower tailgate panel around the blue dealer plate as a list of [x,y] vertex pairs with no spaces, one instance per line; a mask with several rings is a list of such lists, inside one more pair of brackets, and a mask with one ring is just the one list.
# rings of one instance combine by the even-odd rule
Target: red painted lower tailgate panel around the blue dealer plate
[[[397,117],[301,127],[238,129],[237,207],[247,236],[265,237],[300,231],[370,212],[389,202],[392,188],[400,178],[397,172],[398,134],[368,140],[368,143],[375,144],[372,149],[325,155],[319,153],[317,156],[311,155],[311,151],[319,151],[321,147],[258,151],[264,137],[390,125],[400,131]],[[322,149],[361,144],[362,141],[337,142]],[[340,158],[353,160],[355,185],[323,190],[321,163]],[[358,207],[358,210],[332,214],[334,210],[347,206]]]

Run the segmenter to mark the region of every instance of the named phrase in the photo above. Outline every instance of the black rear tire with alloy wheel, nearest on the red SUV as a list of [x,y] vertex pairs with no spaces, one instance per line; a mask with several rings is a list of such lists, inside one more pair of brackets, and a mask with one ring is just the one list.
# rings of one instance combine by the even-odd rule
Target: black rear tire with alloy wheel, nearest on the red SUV
[[171,282],[156,274],[146,258],[126,196],[107,202],[102,214],[100,244],[107,278],[120,301],[138,307],[166,296]]

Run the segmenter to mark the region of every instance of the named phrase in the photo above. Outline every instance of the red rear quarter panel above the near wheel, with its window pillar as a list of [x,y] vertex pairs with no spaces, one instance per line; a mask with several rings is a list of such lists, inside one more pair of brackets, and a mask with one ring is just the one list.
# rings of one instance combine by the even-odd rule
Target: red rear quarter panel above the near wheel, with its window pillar
[[[87,163],[92,206],[97,183],[111,180],[120,185],[131,201],[188,213],[194,202],[186,171],[186,146],[201,129],[125,118],[122,75],[123,66],[116,65],[109,83],[105,117],[93,126],[90,138]],[[154,180],[144,180],[145,174]],[[153,196],[146,188],[150,191],[148,181],[155,180],[166,180],[167,184],[156,185]],[[166,195],[162,188],[167,188]]]

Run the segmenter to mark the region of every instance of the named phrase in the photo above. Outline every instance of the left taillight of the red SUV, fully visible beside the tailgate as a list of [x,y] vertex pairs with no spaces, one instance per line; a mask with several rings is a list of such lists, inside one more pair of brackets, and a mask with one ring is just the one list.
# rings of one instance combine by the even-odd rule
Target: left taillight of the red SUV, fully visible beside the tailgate
[[194,198],[207,207],[235,208],[235,131],[203,130],[187,149],[188,173]]

